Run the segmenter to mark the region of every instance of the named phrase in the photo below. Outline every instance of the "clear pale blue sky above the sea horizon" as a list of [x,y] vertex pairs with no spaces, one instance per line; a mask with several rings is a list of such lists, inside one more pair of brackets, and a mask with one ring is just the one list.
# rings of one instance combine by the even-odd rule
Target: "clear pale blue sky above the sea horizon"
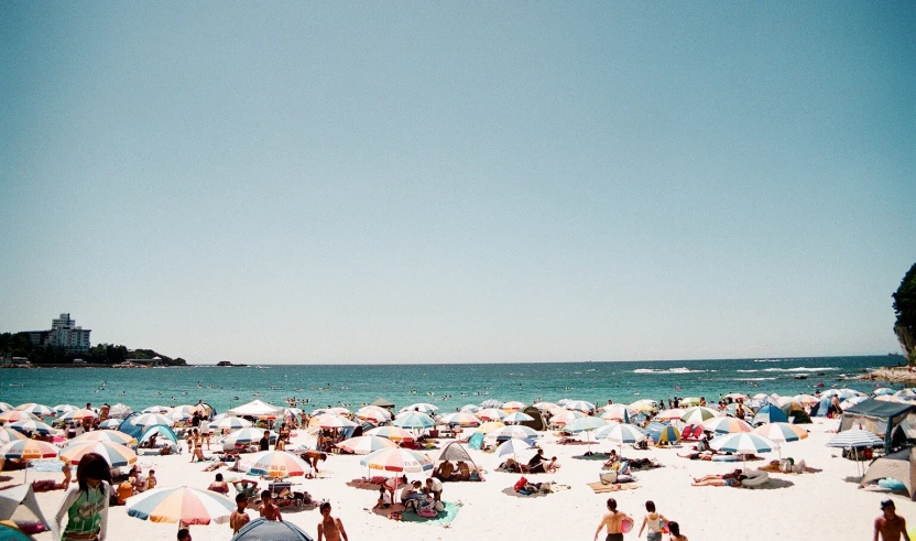
[[0,331],[193,363],[898,351],[916,3],[2,2]]

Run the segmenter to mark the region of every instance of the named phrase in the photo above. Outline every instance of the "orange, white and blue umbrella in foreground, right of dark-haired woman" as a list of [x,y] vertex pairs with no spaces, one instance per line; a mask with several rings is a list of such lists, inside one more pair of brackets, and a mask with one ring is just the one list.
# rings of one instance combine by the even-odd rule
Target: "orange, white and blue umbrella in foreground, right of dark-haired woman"
[[222,524],[229,521],[236,502],[212,490],[189,487],[154,488],[128,498],[128,515],[152,522],[184,526]]

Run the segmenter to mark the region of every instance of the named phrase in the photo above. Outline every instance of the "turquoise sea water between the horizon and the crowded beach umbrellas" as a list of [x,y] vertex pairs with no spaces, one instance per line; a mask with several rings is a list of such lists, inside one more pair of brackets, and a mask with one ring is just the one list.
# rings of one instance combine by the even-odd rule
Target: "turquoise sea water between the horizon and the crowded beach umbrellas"
[[[123,402],[139,410],[204,400],[218,411],[254,398],[282,404],[292,397],[308,399],[317,407],[359,405],[381,396],[399,407],[430,402],[444,410],[487,399],[526,403],[561,398],[596,403],[607,403],[608,399],[632,402],[640,398],[667,401],[674,396],[709,399],[732,391],[796,394],[813,392],[818,382],[824,382],[825,388],[871,391],[874,383],[847,381],[843,377],[899,360],[873,356],[531,365],[8,369],[0,370],[0,401],[52,407]],[[809,379],[795,379],[799,374],[809,375]],[[107,385],[102,387],[103,382]]]

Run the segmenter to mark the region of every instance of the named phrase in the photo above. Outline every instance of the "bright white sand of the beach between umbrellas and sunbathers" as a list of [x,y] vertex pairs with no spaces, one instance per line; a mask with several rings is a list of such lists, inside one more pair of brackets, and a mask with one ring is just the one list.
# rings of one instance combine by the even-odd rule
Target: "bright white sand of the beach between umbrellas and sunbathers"
[[[608,494],[595,494],[588,483],[599,480],[601,462],[575,456],[587,451],[586,445],[560,445],[555,435],[542,437],[546,456],[556,455],[561,468],[556,474],[531,475],[533,482],[553,480],[569,485],[570,489],[544,496],[522,497],[511,490],[517,474],[494,472],[501,462],[493,453],[471,450],[471,456],[487,470],[483,483],[446,483],[443,499],[461,502],[456,518],[447,528],[434,523],[397,522],[370,512],[377,499],[372,490],[353,488],[347,482],[367,475],[359,465],[360,456],[331,455],[319,464],[317,479],[296,478],[295,484],[317,499],[327,499],[334,506],[334,515],[342,519],[351,540],[414,539],[414,540],[532,540],[532,539],[592,539],[595,529],[604,512],[606,501],[613,497],[619,508],[636,519],[636,528],[626,535],[635,539],[644,502],[654,500],[658,511],[681,526],[681,532],[691,540],[811,540],[811,539],[871,539],[872,523],[880,513],[879,502],[893,498],[897,512],[916,522],[916,504],[902,494],[891,495],[884,489],[859,489],[857,465],[839,457],[839,450],[825,446],[838,422],[816,419],[804,425],[810,436],[800,442],[784,444],[783,456],[804,459],[819,473],[802,475],[771,474],[770,482],[754,489],[730,487],[691,487],[690,478],[706,474],[727,473],[734,463],[689,461],[677,456],[688,448],[654,448],[636,451],[624,446],[628,457],[652,457],[664,467],[635,472],[639,488]],[[445,442],[445,441],[443,441]],[[298,432],[290,448],[314,445],[314,437]],[[441,447],[444,443],[440,443]],[[592,444],[593,451],[614,448],[609,442]],[[530,453],[520,454],[526,459]],[[207,453],[209,454],[209,453]],[[429,452],[436,458],[438,451]],[[756,468],[777,457],[776,453],[763,455],[765,461],[749,462]],[[141,456],[139,463],[144,473],[153,467],[160,487],[187,485],[206,488],[214,473],[204,472],[206,464],[188,462],[185,454],[172,456]],[[739,463],[740,465],[740,463]],[[221,469],[227,478],[238,474]],[[10,485],[23,480],[23,472],[4,473],[12,477]],[[29,480],[58,478],[59,474],[30,472]],[[262,485],[264,483],[262,482]],[[230,493],[233,497],[235,493]],[[39,494],[39,502],[48,517],[56,511],[62,491]],[[257,516],[257,511],[249,510]],[[284,520],[302,527],[317,538],[319,521],[317,509],[284,511]],[[154,523],[129,517],[123,507],[112,507],[109,515],[110,540],[174,540],[177,524]],[[190,529],[195,541],[228,540],[228,524],[195,526]],[[35,537],[51,541],[51,533]],[[603,532],[602,537],[603,539]]]

